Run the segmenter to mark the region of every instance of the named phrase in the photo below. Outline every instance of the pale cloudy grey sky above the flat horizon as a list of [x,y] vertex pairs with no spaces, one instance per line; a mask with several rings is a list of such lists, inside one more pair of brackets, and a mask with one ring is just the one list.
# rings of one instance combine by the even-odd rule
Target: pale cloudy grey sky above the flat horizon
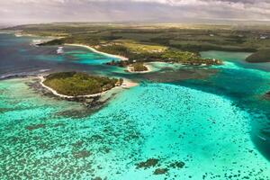
[[270,0],[0,0],[0,23],[270,21]]

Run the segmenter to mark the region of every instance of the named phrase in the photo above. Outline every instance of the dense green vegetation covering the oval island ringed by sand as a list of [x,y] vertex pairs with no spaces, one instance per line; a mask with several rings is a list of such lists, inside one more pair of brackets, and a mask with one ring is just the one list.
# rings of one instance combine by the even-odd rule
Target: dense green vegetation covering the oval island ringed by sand
[[80,72],[61,72],[50,74],[43,82],[58,92],[65,95],[98,94],[120,85],[122,80],[103,76],[89,76]]

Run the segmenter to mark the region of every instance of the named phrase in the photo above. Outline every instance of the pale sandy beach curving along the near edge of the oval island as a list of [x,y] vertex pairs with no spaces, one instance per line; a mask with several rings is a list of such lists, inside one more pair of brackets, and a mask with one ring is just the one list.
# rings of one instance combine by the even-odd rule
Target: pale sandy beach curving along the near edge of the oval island
[[121,86],[115,86],[112,89],[110,89],[108,91],[104,91],[102,93],[70,96],[70,95],[58,94],[58,92],[56,90],[54,90],[54,89],[50,88],[49,86],[43,84],[43,82],[45,81],[44,76],[39,76],[39,78],[40,78],[40,85],[42,85],[42,87],[48,89],[52,94],[57,95],[58,97],[67,98],[67,99],[73,99],[73,98],[77,98],[77,97],[98,97],[98,96],[101,96],[103,94],[106,94],[106,93],[112,91],[112,89],[116,89],[116,88],[128,89],[128,88],[130,88],[132,86],[138,85],[138,83],[132,82],[132,81],[127,80],[127,79],[124,79]]

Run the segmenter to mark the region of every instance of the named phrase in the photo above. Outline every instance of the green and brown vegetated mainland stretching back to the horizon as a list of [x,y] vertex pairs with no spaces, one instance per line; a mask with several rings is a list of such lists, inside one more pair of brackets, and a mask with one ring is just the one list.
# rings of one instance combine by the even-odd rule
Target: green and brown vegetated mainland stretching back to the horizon
[[186,65],[216,65],[220,60],[202,59],[203,50],[256,52],[270,49],[269,26],[49,23],[10,28],[23,33],[61,37],[42,45],[85,44],[121,55],[129,62],[169,61]]

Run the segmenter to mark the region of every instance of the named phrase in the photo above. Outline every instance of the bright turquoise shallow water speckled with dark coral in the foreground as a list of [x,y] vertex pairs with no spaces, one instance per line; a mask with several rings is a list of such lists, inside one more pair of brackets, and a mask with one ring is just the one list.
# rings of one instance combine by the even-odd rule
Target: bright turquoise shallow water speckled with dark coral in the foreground
[[[269,177],[269,162],[250,140],[250,115],[221,96],[145,84],[90,115],[77,103],[32,92],[25,81],[5,80],[0,86],[4,179]],[[36,124],[42,126],[27,128]],[[76,157],[82,151],[89,157]],[[160,159],[160,167],[173,161],[185,166],[169,168],[167,175],[152,175],[157,166],[136,169],[151,157]]]

